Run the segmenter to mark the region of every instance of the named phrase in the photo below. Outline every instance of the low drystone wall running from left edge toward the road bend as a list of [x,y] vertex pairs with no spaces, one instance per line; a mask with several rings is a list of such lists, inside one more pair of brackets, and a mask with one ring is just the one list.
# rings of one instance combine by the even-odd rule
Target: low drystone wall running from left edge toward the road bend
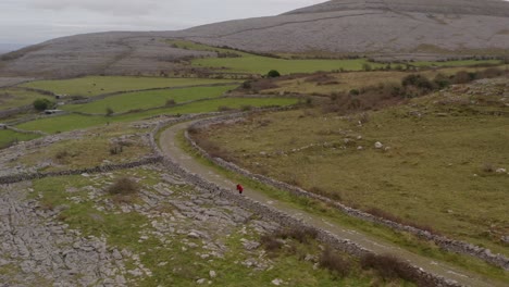
[[21,183],[21,182],[33,180],[33,179],[45,178],[45,177],[53,177],[53,176],[107,173],[107,172],[113,172],[113,171],[125,170],[125,169],[134,169],[134,167],[138,167],[141,165],[147,165],[147,164],[154,164],[161,161],[162,161],[161,157],[150,157],[150,158],[141,159],[139,161],[135,161],[135,162],[99,165],[95,167],[87,167],[87,169],[80,169],[80,170],[8,175],[8,176],[0,177],[0,185],[15,184],[15,183]]

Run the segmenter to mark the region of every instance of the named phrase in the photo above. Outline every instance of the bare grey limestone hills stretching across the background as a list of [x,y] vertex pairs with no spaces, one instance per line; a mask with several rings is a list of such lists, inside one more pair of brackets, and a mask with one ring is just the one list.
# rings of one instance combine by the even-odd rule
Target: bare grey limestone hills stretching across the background
[[64,37],[1,57],[0,74],[77,76],[158,73],[213,55],[173,48],[183,38],[256,52],[369,54],[424,59],[509,54],[509,2],[501,0],[333,0],[288,13],[181,32]]

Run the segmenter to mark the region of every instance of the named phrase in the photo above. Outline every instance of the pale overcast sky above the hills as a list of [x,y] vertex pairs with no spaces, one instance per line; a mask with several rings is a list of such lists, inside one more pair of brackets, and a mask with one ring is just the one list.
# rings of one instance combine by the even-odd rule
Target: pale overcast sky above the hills
[[174,30],[325,0],[0,0],[0,43],[105,30]]

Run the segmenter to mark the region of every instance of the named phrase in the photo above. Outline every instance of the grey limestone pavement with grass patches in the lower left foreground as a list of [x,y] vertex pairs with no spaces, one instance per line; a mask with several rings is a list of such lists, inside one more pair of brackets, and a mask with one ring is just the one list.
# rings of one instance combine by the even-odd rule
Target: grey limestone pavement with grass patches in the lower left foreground
[[[115,201],[105,192],[119,176],[140,184],[135,201]],[[161,273],[166,282],[174,277],[173,283],[210,284],[221,271],[207,270],[207,262],[232,252],[225,240],[236,235],[246,252],[238,264],[258,271],[271,267],[252,238],[277,225],[194,189],[160,166],[76,177],[44,179],[50,188],[37,182],[0,186],[0,286],[132,286]],[[60,199],[53,200],[54,194]],[[80,214],[83,205],[89,209]],[[79,224],[67,221],[70,214]],[[123,214],[145,222],[125,225],[126,233],[136,230],[126,242],[101,229],[110,216]],[[91,224],[83,223],[90,217]],[[202,261],[196,270],[207,272],[187,274],[186,265],[178,263],[183,258]]]

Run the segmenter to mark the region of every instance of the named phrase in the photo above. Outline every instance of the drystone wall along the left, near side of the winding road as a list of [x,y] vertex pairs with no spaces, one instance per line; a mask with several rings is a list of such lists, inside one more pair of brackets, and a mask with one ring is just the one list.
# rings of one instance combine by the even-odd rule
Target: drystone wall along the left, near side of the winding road
[[[235,113],[235,114],[228,114],[226,116],[223,116],[221,118],[228,118],[228,120],[234,120],[238,118],[239,116],[244,116],[247,113]],[[196,117],[195,117],[196,118]],[[193,117],[187,117],[187,120],[193,120]],[[150,139],[150,145],[153,149],[153,152],[162,158],[162,164],[164,167],[171,172],[174,173],[178,176],[181,176],[183,179],[185,179],[186,183],[191,184],[196,187],[202,188],[204,190],[208,190],[212,195],[219,198],[224,198],[227,199],[237,205],[251,210],[254,213],[259,214],[266,221],[274,221],[277,222],[280,225],[284,227],[290,227],[290,228],[310,228],[316,232],[318,234],[318,239],[324,244],[327,244],[332,246],[335,249],[342,250],[344,252],[347,252],[349,254],[356,255],[356,257],[362,257],[369,253],[372,253],[372,251],[362,248],[361,246],[347,240],[347,239],[342,239],[335,236],[334,234],[316,228],[314,226],[308,225],[300,220],[293,217],[286,213],[283,213],[276,209],[273,209],[271,207],[268,207],[261,202],[251,200],[249,198],[239,196],[235,192],[232,192],[228,189],[222,188],[213,183],[210,183],[199,175],[191,173],[187,171],[186,169],[179,166],[177,163],[175,163],[171,158],[166,157],[159,148],[158,144],[156,142],[156,136],[160,130],[162,130],[164,127],[167,127],[169,125],[173,125],[179,122],[185,122],[186,118],[179,118],[179,120],[170,120],[163,123],[160,123],[151,133],[151,139]],[[210,118],[210,120],[204,120],[207,123],[220,121],[220,118]],[[445,279],[444,277],[440,276],[435,276],[431,273],[427,273],[417,266],[409,265],[409,269],[412,270],[414,274],[414,278],[418,278],[421,283],[423,283],[425,286],[450,286],[450,287],[458,287],[461,286],[458,283],[454,280],[448,280]]]

